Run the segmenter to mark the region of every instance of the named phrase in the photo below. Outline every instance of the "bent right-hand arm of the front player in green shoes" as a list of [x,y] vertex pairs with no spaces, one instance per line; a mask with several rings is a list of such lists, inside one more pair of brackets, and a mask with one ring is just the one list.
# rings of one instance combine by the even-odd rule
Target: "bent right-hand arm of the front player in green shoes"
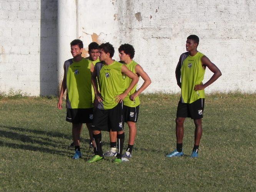
[[138,83],[139,78],[138,76],[133,73],[132,71],[130,71],[125,65],[123,65],[121,67],[121,72],[123,74],[126,74],[126,76],[128,76],[128,78],[132,79],[131,83],[129,85],[129,87],[125,90],[125,92],[123,92],[122,94],[118,95],[115,97],[116,102],[121,102],[123,101],[123,99],[128,95],[128,93],[131,91],[131,89]]

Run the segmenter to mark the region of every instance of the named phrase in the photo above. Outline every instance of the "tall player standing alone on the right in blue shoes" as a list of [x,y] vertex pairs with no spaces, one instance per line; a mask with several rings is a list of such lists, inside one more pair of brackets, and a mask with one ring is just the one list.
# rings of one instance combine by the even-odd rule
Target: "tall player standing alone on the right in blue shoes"
[[[183,156],[182,144],[185,118],[194,120],[194,147],[191,157],[198,157],[198,147],[202,136],[202,118],[204,111],[204,89],[221,76],[221,71],[206,56],[198,52],[199,38],[190,35],[186,41],[188,52],[181,54],[176,67],[176,80],[181,88],[181,98],[178,103],[176,117],[176,149],[166,157]],[[213,76],[203,84],[206,68],[213,72]]]

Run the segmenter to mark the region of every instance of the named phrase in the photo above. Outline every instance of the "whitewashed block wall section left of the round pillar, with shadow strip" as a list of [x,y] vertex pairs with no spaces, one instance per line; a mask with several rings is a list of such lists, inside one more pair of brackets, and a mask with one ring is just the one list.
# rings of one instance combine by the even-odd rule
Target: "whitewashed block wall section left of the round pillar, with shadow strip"
[[57,0],[0,0],[0,92],[57,94]]

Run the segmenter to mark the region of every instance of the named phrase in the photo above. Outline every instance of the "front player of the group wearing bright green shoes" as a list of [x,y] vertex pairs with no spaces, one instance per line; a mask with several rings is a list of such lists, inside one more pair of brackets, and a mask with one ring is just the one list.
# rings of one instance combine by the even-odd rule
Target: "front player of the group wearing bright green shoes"
[[[91,77],[95,99],[99,102],[92,125],[97,154],[88,162],[96,162],[103,158],[101,131],[113,131],[117,132],[118,139],[118,153],[114,162],[120,163],[123,143],[125,141],[125,132],[123,131],[123,99],[138,83],[139,78],[135,73],[128,70],[125,65],[112,59],[115,50],[110,43],[101,44],[99,52],[101,62],[96,63]],[[128,87],[125,86],[123,74],[132,79]],[[96,86],[96,77],[99,82],[100,93]]]

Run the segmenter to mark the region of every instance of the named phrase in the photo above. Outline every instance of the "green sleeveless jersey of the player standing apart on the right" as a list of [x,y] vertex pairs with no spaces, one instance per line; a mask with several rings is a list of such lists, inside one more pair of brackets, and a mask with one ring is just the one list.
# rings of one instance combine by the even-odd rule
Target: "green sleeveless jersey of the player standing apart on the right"
[[197,52],[190,56],[188,52],[181,55],[181,102],[193,103],[194,101],[205,98],[204,89],[194,91],[196,84],[203,83],[205,69],[202,66],[201,58],[203,53]]

